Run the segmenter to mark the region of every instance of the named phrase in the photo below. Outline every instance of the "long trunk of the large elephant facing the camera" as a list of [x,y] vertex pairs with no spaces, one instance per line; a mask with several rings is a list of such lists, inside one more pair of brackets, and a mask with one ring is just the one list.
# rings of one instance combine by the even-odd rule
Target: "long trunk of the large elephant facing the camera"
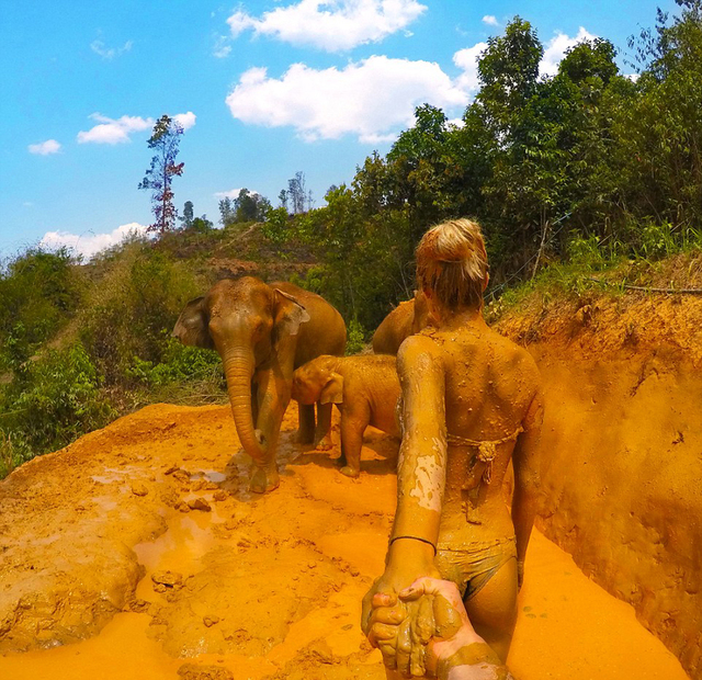
[[253,356],[250,352],[227,352],[223,358],[227,376],[227,390],[231,404],[231,415],[244,450],[259,464],[267,462],[267,452],[261,445],[261,434],[254,429],[251,412],[251,377]]

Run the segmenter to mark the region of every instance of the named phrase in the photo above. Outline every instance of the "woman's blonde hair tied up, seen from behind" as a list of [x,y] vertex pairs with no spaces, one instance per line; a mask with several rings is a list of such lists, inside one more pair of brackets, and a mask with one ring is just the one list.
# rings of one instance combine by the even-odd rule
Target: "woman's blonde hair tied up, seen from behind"
[[424,234],[417,247],[417,280],[448,309],[483,306],[487,252],[480,226],[451,219]]

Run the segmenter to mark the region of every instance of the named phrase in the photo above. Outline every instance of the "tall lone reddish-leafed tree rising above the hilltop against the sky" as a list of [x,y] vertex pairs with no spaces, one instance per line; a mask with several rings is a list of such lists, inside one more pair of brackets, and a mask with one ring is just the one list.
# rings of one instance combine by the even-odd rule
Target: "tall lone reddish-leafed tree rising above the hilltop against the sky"
[[154,134],[149,137],[149,149],[156,149],[151,158],[151,166],[139,182],[139,189],[151,190],[151,209],[154,224],[149,231],[165,234],[176,227],[178,209],[173,204],[171,183],[174,177],[183,173],[185,163],[177,163],[178,145],[183,127],[170,116],[163,114],[154,126]]

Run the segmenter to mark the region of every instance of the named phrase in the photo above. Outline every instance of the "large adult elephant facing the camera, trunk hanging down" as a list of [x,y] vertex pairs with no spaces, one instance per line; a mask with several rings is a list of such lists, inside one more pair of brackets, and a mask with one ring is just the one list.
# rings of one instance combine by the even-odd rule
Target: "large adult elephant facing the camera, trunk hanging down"
[[[341,315],[291,283],[224,279],[185,305],[173,336],[219,352],[237,433],[254,464],[251,490],[276,488],[275,449],[293,371],[320,354],[343,354]],[[312,442],[314,430],[315,407],[301,406],[298,441]]]

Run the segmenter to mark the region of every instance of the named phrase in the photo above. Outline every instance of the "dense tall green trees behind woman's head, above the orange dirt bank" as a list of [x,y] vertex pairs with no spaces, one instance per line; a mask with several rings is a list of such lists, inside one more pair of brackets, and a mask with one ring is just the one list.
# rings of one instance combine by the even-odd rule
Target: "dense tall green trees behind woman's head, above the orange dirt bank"
[[478,61],[480,90],[460,125],[430,105],[389,152],[366,158],[349,186],[293,222],[270,219],[318,259],[305,282],[347,318],[374,328],[409,297],[428,225],[468,215],[486,233],[492,287],[568,259],[573,241],[649,257],[695,240],[702,218],[702,2],[677,0],[632,39],[636,78],[601,38],[540,77],[543,46],[516,18]]

